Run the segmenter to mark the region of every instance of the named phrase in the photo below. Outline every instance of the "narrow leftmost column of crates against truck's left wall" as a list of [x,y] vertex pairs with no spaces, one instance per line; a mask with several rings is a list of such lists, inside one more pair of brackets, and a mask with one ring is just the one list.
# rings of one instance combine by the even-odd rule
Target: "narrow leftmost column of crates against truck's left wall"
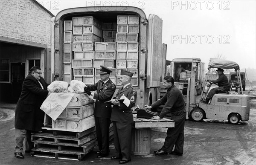
[[64,43],[63,43],[63,81],[70,83],[73,80],[71,60],[72,53],[72,21],[64,21]]

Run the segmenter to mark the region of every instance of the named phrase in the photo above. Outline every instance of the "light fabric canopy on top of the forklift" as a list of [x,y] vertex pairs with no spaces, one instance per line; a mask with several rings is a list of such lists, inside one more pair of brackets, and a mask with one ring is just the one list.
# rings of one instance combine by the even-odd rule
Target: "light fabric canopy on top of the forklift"
[[235,69],[235,71],[240,69],[236,62],[221,60],[218,58],[210,58],[208,69],[210,68]]

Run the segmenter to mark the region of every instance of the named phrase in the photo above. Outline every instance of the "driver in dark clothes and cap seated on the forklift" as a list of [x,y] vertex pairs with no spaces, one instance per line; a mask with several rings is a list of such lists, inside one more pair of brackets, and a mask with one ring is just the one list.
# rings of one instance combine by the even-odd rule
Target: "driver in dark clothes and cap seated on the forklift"
[[218,79],[217,80],[207,80],[207,81],[211,81],[213,84],[217,84],[218,87],[216,88],[212,88],[210,90],[210,92],[208,93],[207,97],[205,98],[205,100],[202,100],[202,102],[204,102],[205,104],[208,104],[209,100],[212,99],[212,96],[217,93],[217,92],[226,92],[229,90],[229,82],[227,79],[227,76],[223,74],[224,70],[221,68],[218,68],[216,70],[218,72]]

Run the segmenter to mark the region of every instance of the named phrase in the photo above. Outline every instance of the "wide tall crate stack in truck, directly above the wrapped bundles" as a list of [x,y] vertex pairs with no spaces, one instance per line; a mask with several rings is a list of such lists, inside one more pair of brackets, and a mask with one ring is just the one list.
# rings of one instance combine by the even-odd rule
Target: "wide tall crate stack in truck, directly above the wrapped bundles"
[[94,84],[95,43],[102,41],[102,23],[95,17],[73,17],[73,75],[75,80]]

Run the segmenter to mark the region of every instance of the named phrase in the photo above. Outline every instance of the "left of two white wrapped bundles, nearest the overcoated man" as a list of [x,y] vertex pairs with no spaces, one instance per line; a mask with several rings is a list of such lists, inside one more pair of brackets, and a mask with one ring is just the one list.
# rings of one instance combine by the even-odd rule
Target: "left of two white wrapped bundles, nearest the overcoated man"
[[67,93],[68,92],[68,83],[65,81],[53,81],[47,87],[49,93]]

